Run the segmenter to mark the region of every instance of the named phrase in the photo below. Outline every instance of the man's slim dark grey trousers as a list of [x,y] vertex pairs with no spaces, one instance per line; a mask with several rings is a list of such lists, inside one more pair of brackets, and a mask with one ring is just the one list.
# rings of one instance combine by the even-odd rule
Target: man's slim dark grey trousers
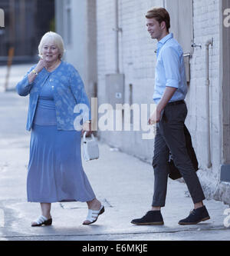
[[165,206],[167,181],[169,175],[169,151],[176,168],[184,178],[193,203],[205,199],[192,161],[186,149],[184,122],[186,120],[186,103],[180,105],[166,105],[161,120],[156,125],[156,138],[154,142],[154,194],[152,206]]

